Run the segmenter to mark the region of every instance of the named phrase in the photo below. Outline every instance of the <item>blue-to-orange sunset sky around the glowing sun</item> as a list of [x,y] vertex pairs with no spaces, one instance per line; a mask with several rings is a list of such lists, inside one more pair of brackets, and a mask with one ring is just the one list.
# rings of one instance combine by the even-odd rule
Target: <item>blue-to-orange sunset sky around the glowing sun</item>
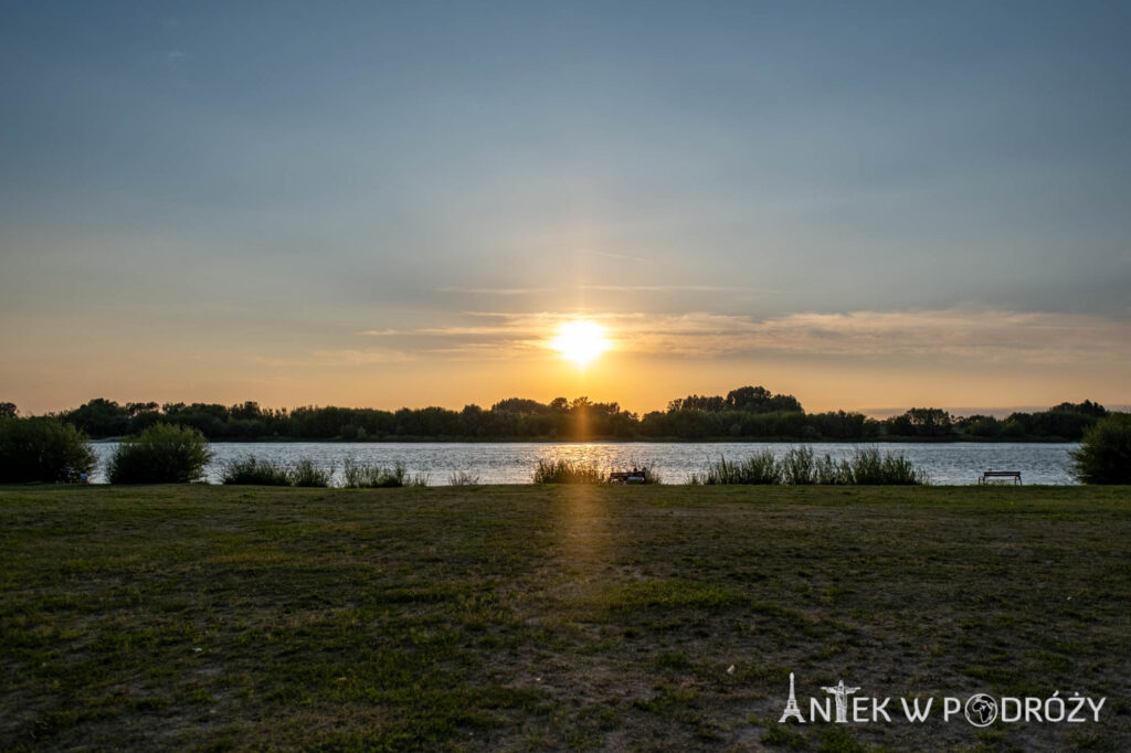
[[[1131,404],[1131,6],[6,2],[0,400]],[[611,349],[547,347],[572,320]]]

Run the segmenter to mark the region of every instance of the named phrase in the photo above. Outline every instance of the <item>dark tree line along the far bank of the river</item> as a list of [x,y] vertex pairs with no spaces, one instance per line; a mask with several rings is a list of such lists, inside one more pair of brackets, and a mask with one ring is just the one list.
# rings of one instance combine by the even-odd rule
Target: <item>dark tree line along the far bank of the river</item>
[[[0,415],[16,406],[0,403]],[[890,418],[836,410],[806,413],[792,395],[742,387],[726,396],[689,395],[642,415],[586,397],[550,403],[508,398],[490,408],[264,408],[247,401],[126,403],[97,398],[54,414],[92,438],[138,434],[155,424],[180,424],[214,441],[248,440],[1079,440],[1107,410],[1096,403],[1062,403],[1048,410],[952,416],[941,408],[910,408]]]

